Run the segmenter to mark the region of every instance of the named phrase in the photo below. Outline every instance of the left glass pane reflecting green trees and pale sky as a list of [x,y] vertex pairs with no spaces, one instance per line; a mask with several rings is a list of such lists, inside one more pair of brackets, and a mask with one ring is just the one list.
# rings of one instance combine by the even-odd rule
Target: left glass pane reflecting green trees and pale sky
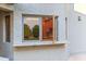
[[38,17],[24,17],[24,40],[39,40]]

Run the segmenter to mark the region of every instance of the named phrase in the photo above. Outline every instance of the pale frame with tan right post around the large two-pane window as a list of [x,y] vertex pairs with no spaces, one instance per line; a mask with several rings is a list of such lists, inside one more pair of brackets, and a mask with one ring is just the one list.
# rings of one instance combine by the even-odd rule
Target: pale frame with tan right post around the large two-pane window
[[[28,17],[40,17],[40,20],[41,20],[41,17],[42,16],[51,16],[52,18],[53,18],[53,21],[54,21],[54,23],[53,23],[53,26],[56,27],[56,28],[53,28],[54,29],[54,31],[52,31],[52,33],[54,33],[57,36],[54,36],[54,34],[52,34],[52,36],[54,37],[52,40],[48,40],[48,41],[53,41],[53,40],[56,40],[56,41],[58,41],[58,27],[57,27],[57,24],[58,24],[58,17],[59,16],[54,16],[54,15],[44,15],[44,14],[22,14],[22,35],[23,35],[23,37],[22,37],[22,41],[23,42],[45,42],[45,41],[47,41],[47,40],[42,40],[42,25],[40,26],[39,25],[39,40],[24,40],[24,17],[25,16],[28,16]],[[56,21],[56,18],[57,18],[57,21]],[[41,24],[42,22],[40,22],[40,24]]]

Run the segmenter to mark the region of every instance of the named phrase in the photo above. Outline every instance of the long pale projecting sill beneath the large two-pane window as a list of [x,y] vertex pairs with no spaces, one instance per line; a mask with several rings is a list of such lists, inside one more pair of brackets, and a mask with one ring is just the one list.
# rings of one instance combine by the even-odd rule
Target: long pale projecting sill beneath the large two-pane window
[[30,46],[53,46],[53,44],[66,44],[69,43],[67,41],[56,41],[52,43],[52,41],[38,41],[38,42],[30,42],[30,41],[25,41],[22,43],[14,43],[13,47],[30,47]]

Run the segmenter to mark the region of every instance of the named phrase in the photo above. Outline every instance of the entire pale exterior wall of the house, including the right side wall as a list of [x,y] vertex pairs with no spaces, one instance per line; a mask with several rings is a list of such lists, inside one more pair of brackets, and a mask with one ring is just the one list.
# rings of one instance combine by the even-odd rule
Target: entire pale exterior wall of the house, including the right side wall
[[[7,4],[0,4],[0,8],[2,7],[9,10],[13,9],[13,7],[10,7]],[[69,53],[71,54],[86,53],[86,47],[85,47],[86,44],[85,43],[86,41],[85,39],[86,38],[86,29],[85,29],[86,15],[83,13],[75,12],[73,4],[53,4],[52,7],[51,5],[45,7],[45,5],[38,5],[38,4],[15,4],[14,8],[15,8],[14,9],[14,22],[13,22],[14,24],[13,25],[14,26],[13,42],[14,43],[22,43],[22,14],[52,14],[53,10],[54,10],[56,15],[59,15],[59,20],[58,20],[59,21],[59,26],[58,26],[59,27],[59,36],[58,36],[59,41],[66,40],[65,28],[64,28],[65,17],[67,17],[67,35],[69,35],[67,40],[70,41],[70,44],[69,44],[70,50],[67,50],[67,48],[65,50],[61,50],[57,47],[54,49],[47,49],[47,50],[41,49],[41,50],[36,50],[36,51],[34,50],[14,51],[14,60],[67,60]],[[79,22],[78,22],[78,16],[82,16],[82,21]],[[1,26],[0,36],[2,35],[2,33],[3,31],[2,31],[2,26]],[[3,50],[3,52],[0,51],[0,55],[12,60],[13,59],[13,55],[11,53],[12,44],[2,43],[2,37],[0,37],[0,46],[1,46],[0,49]]]

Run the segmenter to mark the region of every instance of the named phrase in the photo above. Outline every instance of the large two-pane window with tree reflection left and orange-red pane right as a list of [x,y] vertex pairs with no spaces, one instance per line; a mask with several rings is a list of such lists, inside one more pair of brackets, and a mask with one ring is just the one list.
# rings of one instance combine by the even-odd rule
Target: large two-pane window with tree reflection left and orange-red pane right
[[[54,20],[57,22],[57,20]],[[54,37],[53,16],[23,16],[24,40],[52,41]],[[56,34],[57,35],[57,34]],[[57,39],[57,37],[56,37]]]

